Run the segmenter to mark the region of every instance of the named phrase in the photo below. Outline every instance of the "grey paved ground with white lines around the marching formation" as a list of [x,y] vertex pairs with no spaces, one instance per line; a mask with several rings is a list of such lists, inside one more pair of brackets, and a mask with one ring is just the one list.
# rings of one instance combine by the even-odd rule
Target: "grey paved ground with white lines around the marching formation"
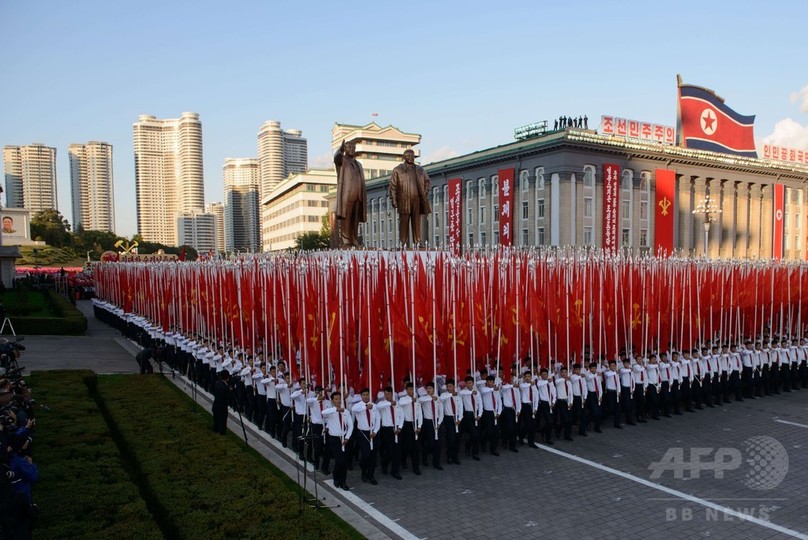
[[[23,363],[135,371],[136,347],[81,307],[88,337],[28,337]],[[194,394],[184,378],[173,381]],[[196,399],[209,408],[204,392]],[[297,478],[291,451],[246,424],[250,445]],[[230,428],[241,436],[233,413]],[[602,434],[500,449],[479,462],[461,451],[462,465],[422,467],[420,477],[403,470],[401,481],[377,468],[378,486],[355,469],[348,494],[318,476],[318,495],[370,538],[808,539],[806,449],[808,390],[800,390],[622,430],[606,423]]]

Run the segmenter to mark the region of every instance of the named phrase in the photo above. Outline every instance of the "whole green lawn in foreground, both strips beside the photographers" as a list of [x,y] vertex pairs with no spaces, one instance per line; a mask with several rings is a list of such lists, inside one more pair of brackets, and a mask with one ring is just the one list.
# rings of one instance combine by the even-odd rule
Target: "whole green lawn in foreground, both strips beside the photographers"
[[215,435],[162,377],[40,372],[31,385],[51,409],[38,410],[37,537],[360,538],[328,510],[301,516],[296,484]]

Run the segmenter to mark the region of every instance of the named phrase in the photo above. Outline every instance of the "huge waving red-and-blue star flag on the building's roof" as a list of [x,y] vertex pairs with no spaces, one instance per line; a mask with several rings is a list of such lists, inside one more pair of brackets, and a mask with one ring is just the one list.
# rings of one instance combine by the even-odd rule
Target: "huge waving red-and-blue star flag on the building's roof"
[[733,111],[712,90],[679,86],[679,143],[685,148],[757,157],[755,117]]

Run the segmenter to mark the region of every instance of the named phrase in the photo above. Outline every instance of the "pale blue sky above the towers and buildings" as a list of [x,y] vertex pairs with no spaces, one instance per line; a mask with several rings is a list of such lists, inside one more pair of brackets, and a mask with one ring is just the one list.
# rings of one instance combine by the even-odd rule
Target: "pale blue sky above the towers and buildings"
[[[676,122],[676,74],[755,136],[808,149],[808,2],[0,0],[0,145],[113,145],[116,232],[137,232],[132,124],[202,121],[205,201],[266,120],[330,162],[335,122],[420,133],[421,162],[564,114]],[[378,116],[372,116],[374,113]],[[5,201],[4,201],[5,202]]]

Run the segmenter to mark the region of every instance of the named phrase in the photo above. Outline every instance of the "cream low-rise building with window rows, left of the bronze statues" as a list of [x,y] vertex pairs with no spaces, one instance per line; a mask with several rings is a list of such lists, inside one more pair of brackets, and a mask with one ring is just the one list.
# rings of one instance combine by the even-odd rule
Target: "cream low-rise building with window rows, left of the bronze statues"
[[328,194],[337,185],[333,169],[310,169],[293,174],[261,201],[265,251],[295,246],[297,237],[316,232],[328,213]]

